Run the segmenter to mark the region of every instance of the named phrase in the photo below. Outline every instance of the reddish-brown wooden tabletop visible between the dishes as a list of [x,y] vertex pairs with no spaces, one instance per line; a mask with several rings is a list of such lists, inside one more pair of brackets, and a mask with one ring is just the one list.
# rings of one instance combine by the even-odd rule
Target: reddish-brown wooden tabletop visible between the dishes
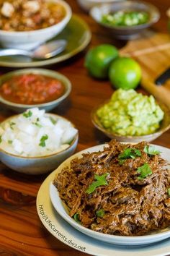
[[[161,20],[153,29],[158,32],[167,33],[166,10],[169,7],[169,0],[149,0],[155,4],[161,12]],[[99,43],[112,43],[118,48],[125,45],[112,39],[104,30],[82,11],[74,0],[68,0],[73,12],[79,14],[92,31],[90,46],[96,46]],[[89,148],[109,141],[107,137],[97,131],[91,124],[90,112],[94,106],[102,103],[113,93],[112,87],[108,81],[94,80],[84,68],[84,56],[86,51],[82,52],[73,59],[63,64],[53,65],[49,69],[57,70],[65,74],[73,85],[70,97],[67,101],[55,108],[54,113],[66,116],[76,124],[79,129],[79,145],[77,151]],[[1,73],[8,72],[9,69],[1,68]],[[141,88],[138,90],[142,90]],[[0,121],[12,112],[5,109],[0,110]],[[153,141],[158,145],[170,147],[170,131],[164,133],[157,140]],[[37,216],[36,196],[40,184],[44,181],[43,176],[27,176],[17,174],[9,170],[3,164],[0,166],[0,254],[6,256],[26,256],[26,255],[86,255],[83,252],[76,251],[71,247],[55,239],[42,226]]]

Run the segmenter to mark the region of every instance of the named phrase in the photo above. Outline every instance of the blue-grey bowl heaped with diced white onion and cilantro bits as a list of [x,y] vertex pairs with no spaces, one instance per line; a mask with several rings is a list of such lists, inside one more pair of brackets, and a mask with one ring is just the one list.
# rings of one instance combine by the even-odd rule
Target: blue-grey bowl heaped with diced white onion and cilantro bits
[[0,124],[0,160],[15,171],[44,174],[73,154],[78,137],[68,119],[30,108]]

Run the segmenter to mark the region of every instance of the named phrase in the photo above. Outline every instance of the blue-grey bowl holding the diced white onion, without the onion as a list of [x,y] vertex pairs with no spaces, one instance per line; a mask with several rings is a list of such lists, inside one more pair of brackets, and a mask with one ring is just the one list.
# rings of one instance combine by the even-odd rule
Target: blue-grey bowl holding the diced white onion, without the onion
[[[56,114],[46,114],[48,116],[51,116],[53,118],[58,119],[64,119],[62,116],[58,116]],[[3,121],[1,125],[3,125],[6,121],[11,120],[12,118],[16,116],[9,117],[9,119],[6,119]],[[68,120],[67,120],[68,121]],[[72,124],[72,123],[71,123]],[[74,127],[74,125],[72,124]],[[68,148],[65,150],[62,150],[58,153],[53,153],[50,155],[44,155],[44,156],[37,156],[37,157],[27,157],[27,156],[19,156],[14,155],[11,153],[8,153],[2,149],[0,149],[0,161],[4,163],[9,168],[12,168],[14,171],[18,171],[24,174],[45,174],[49,171],[53,171],[55,168],[57,168],[66,158],[71,156],[74,151],[76,150],[76,146],[78,143],[79,135],[78,133],[73,138],[73,141],[69,145]]]

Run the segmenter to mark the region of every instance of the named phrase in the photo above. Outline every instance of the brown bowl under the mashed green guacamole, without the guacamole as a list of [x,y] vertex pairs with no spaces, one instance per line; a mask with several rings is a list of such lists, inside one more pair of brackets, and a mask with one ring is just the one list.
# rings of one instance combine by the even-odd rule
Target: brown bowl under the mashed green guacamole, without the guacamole
[[[104,101],[103,103],[99,104],[99,106],[96,106],[92,109],[91,111],[91,121],[92,123],[94,124],[94,127],[96,127],[97,129],[99,129],[101,132],[103,132],[105,135],[107,135],[109,137],[119,137],[121,138],[122,140],[135,140],[135,139],[141,139],[141,140],[145,140],[147,138],[150,138],[150,137],[153,137],[154,135],[160,135],[160,132],[161,133],[164,133],[166,132],[169,128],[170,128],[170,121],[169,121],[169,124],[164,127],[164,129],[162,129],[161,127],[156,131],[156,132],[153,132],[151,134],[148,134],[148,135],[119,135],[115,132],[110,132],[109,130],[105,129],[102,124],[100,123],[99,121],[99,118],[97,117],[97,110],[99,108],[101,108],[102,106],[104,106],[106,103],[108,103],[110,101],[107,100],[107,101]],[[163,107],[163,111],[164,111],[164,114],[167,113],[167,116],[170,116],[170,110],[168,107],[166,107],[166,105],[164,105],[163,103],[158,103],[159,106],[161,106],[161,108]],[[164,119],[163,119],[164,120]],[[169,119],[170,120],[170,119]]]

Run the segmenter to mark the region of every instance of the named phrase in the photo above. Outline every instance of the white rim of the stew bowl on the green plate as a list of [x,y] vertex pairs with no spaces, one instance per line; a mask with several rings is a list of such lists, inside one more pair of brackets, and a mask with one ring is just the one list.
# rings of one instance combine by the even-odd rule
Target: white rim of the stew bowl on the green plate
[[69,4],[66,1],[63,0],[50,0],[50,1],[54,1],[56,3],[59,3],[61,5],[63,5],[65,11],[66,11],[66,15],[63,17],[63,19],[56,23],[55,25],[49,26],[49,27],[45,27],[45,28],[40,28],[38,30],[28,30],[28,31],[8,31],[8,30],[0,30],[0,35],[6,35],[6,36],[24,36],[24,35],[33,35],[34,33],[39,34],[39,33],[48,33],[49,30],[53,29],[54,27],[61,25],[65,22],[68,22],[71,19],[71,7],[69,6]]

